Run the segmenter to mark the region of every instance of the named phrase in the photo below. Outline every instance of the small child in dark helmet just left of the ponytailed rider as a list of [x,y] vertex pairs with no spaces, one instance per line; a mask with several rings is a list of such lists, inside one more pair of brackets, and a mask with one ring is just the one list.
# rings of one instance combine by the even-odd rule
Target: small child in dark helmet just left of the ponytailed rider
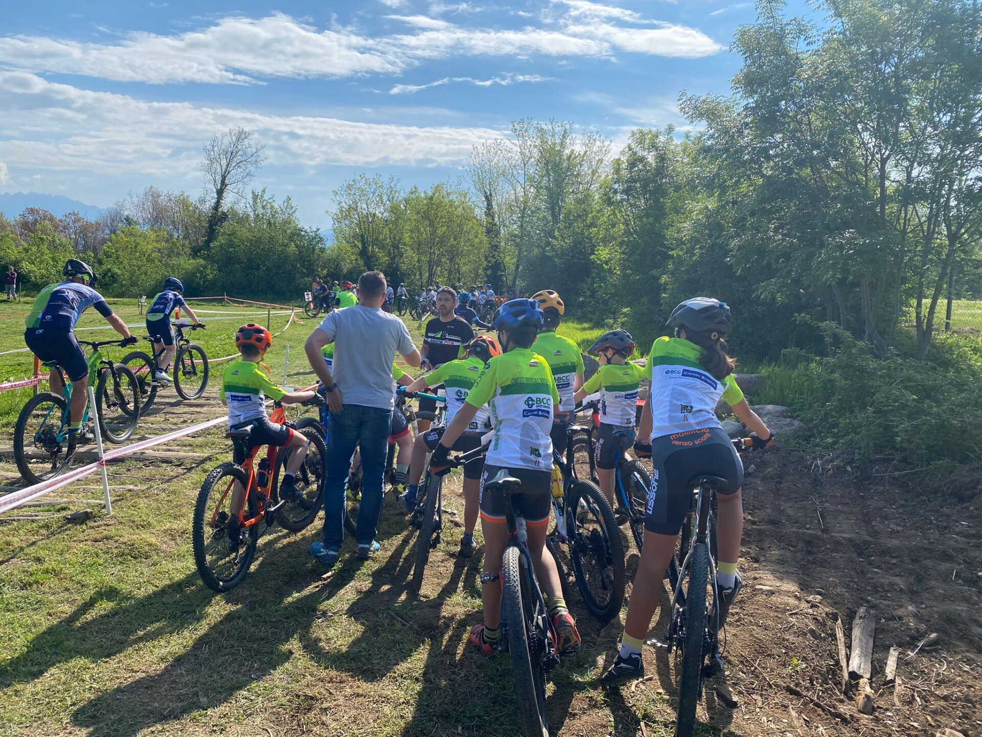
[[[579,403],[587,394],[600,392],[600,427],[596,442],[597,479],[612,508],[614,460],[619,450],[626,450],[634,441],[637,389],[645,376],[644,369],[627,363],[627,357],[633,351],[634,339],[627,330],[611,330],[597,338],[587,353],[597,357],[600,369],[590,376],[573,397]],[[629,433],[624,433],[623,430],[629,430]]]

